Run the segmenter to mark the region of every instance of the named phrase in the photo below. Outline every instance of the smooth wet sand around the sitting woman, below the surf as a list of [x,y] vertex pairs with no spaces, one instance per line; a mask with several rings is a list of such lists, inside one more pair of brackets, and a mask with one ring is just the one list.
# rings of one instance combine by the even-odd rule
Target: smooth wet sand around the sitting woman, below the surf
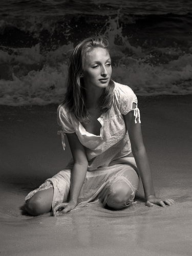
[[0,106],[0,255],[192,255],[192,96],[139,97],[142,132],[156,195],[171,207],[136,203],[121,211],[100,203],[52,217],[24,214],[25,196],[65,167],[56,105]]

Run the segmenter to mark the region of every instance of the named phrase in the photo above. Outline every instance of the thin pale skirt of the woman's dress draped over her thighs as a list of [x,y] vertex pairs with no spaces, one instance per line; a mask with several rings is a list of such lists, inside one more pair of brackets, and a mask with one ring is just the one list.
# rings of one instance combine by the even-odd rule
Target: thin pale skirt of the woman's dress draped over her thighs
[[[39,188],[31,191],[25,200],[27,201],[40,190],[53,187],[52,207],[57,203],[68,201],[72,168],[73,162],[71,161],[65,169],[61,170],[52,178],[47,179]],[[120,158],[112,161],[107,167],[100,167],[87,172],[78,198],[79,204],[75,209],[86,206],[96,199],[99,199],[105,205],[111,193],[110,186],[113,182],[125,182],[130,186],[131,197],[125,202],[124,207],[132,205],[139,188],[139,176],[134,157]]]

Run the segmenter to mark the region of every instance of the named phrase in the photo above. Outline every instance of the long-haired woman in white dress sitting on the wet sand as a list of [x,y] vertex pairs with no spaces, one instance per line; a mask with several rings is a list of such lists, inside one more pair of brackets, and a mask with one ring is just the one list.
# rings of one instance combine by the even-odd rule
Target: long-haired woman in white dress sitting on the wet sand
[[133,204],[139,176],[147,206],[174,203],[155,196],[137,97],[131,88],[112,81],[111,75],[106,39],[87,38],[77,45],[69,63],[65,100],[57,111],[62,144],[65,148],[67,134],[73,159],[29,193],[30,215],[52,210],[56,216],[95,199],[122,209]]

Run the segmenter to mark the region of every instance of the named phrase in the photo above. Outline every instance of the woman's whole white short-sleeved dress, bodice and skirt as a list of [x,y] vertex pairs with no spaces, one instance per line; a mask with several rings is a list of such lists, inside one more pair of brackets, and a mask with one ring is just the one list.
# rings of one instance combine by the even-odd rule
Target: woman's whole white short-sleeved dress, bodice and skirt
[[[133,203],[138,190],[139,177],[135,159],[126,157],[131,153],[131,142],[123,119],[123,115],[134,110],[135,122],[137,122],[137,118],[141,122],[137,97],[130,87],[117,82],[114,83],[112,107],[97,119],[101,124],[99,136],[87,132],[75,116],[67,111],[64,105],[59,105],[57,110],[57,121],[62,129],[59,134],[62,137],[64,150],[64,135],[66,133],[76,133],[79,141],[85,147],[89,162],[86,179],[79,196],[80,205],[85,205],[97,198],[105,204],[110,194],[110,185],[115,180],[126,182],[131,187],[131,199],[125,202],[125,206]],[[133,103],[136,104],[134,109]],[[50,187],[54,189],[52,207],[59,202],[67,201],[72,168],[73,159],[65,169],[47,179],[39,188],[31,191],[27,195],[26,201],[37,191]]]

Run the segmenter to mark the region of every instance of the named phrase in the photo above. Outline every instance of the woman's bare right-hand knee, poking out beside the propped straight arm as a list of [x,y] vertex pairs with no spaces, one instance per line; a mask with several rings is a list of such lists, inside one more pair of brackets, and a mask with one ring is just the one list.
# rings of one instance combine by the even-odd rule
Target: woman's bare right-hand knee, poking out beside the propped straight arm
[[132,188],[126,183],[116,182],[111,185],[107,204],[113,209],[122,209],[133,201]]

